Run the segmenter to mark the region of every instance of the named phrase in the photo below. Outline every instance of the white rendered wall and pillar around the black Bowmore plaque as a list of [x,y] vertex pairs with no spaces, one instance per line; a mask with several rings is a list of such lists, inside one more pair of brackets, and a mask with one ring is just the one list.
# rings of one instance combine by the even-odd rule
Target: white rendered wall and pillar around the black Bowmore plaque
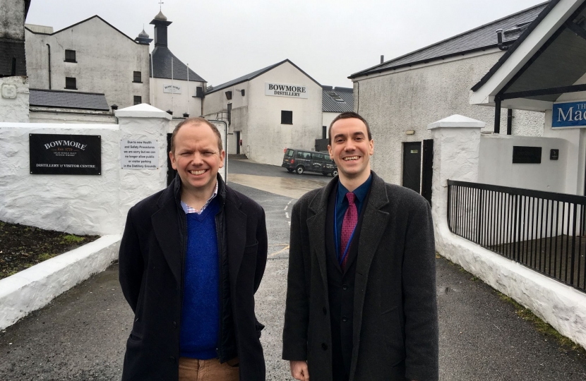
[[[73,234],[120,234],[128,208],[166,186],[169,119],[140,104],[119,125],[0,123],[0,219]],[[101,175],[32,175],[30,133],[100,135]],[[121,169],[120,141],[156,140],[159,168]]]

